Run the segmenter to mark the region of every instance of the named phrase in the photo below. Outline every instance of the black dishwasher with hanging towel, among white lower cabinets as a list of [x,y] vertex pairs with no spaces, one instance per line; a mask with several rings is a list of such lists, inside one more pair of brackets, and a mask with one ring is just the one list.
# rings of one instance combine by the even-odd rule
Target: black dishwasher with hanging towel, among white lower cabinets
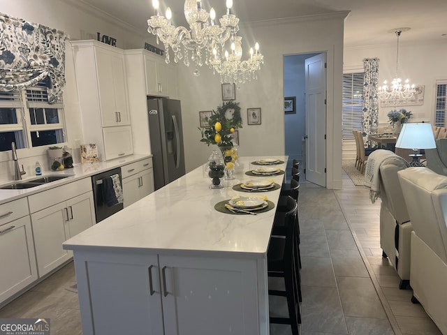
[[96,223],[103,221],[105,218],[108,218],[109,216],[115,214],[117,211],[121,211],[123,209],[122,200],[118,201],[116,204],[107,204],[107,201],[105,201],[105,182],[108,178],[116,178],[117,180],[119,180],[119,183],[116,183],[115,186],[118,186],[118,191],[122,192],[121,168],[115,168],[91,176],[91,185],[93,186],[93,197],[95,203]]

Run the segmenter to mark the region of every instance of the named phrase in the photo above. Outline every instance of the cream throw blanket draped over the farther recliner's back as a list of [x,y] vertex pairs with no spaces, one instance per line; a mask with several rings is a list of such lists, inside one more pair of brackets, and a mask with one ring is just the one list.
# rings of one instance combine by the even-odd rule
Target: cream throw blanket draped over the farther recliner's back
[[397,156],[393,151],[378,149],[368,156],[365,169],[365,186],[369,187],[369,199],[374,204],[381,195],[381,177],[380,166],[383,163],[393,163],[393,161],[402,161],[408,166],[408,163],[401,156]]

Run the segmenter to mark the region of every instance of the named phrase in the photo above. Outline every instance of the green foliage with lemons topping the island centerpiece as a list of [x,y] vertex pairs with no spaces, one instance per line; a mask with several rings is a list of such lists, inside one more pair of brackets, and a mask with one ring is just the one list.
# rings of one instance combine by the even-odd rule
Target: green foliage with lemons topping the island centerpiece
[[[228,110],[233,110],[231,118],[227,117]],[[205,118],[209,124],[207,128],[198,128],[202,134],[200,142],[207,145],[217,144],[219,147],[233,147],[233,132],[237,128],[242,128],[242,117],[240,115],[239,103],[228,101],[217,107],[217,111],[212,111],[210,117]],[[220,129],[215,128],[219,122]],[[219,136],[217,136],[219,135]],[[216,142],[220,139],[220,142]]]

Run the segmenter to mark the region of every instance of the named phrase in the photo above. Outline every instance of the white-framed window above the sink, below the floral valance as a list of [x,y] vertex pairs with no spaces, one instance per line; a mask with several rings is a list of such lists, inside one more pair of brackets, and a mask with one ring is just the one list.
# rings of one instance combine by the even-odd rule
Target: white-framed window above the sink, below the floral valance
[[0,151],[66,142],[62,101],[47,103],[43,85],[24,91],[0,92]]

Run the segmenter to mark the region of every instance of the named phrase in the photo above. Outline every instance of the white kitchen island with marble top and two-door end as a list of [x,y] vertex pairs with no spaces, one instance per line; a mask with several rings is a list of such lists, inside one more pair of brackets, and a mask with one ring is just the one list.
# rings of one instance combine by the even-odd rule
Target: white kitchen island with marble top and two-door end
[[[223,214],[214,204],[259,168],[244,157],[236,179],[210,189],[206,164],[68,239],[73,250],[82,332],[268,335],[267,250],[274,209]],[[286,162],[287,156],[274,156]],[[274,165],[285,170],[286,164]]]

